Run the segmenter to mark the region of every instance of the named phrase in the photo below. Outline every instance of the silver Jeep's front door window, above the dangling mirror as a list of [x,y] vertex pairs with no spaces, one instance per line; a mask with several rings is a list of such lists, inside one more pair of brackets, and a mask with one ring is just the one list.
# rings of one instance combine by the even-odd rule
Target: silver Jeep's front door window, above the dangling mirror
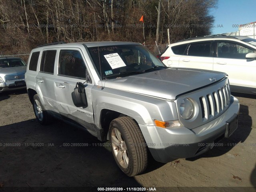
[[86,78],[86,66],[79,51],[60,51],[59,75],[73,78]]

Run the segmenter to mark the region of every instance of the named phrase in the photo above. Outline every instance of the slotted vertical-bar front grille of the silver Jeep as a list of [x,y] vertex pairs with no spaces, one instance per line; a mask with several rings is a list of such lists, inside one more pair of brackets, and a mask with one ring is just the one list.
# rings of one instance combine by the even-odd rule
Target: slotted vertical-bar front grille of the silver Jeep
[[228,83],[206,96],[201,96],[199,100],[203,122],[222,114],[229,106],[230,97],[230,87]]

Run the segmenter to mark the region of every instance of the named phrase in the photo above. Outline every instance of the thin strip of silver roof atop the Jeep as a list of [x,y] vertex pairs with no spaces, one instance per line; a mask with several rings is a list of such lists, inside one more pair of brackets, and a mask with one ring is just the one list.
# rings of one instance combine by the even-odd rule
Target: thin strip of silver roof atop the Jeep
[[137,44],[138,45],[140,43],[122,42],[122,41],[76,42],[76,43],[55,42],[55,43],[40,45],[40,46],[37,46],[37,48],[45,47],[45,46],[63,47],[63,46],[78,45],[78,44],[84,44],[87,47],[96,47],[96,46],[115,46],[115,45],[128,45],[128,44]]

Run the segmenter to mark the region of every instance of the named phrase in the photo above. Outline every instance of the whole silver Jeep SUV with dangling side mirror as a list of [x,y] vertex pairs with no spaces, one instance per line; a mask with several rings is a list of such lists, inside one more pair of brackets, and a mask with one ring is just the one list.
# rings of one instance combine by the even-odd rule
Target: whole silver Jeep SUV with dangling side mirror
[[138,43],[39,46],[25,79],[40,124],[54,117],[110,140],[128,176],[142,173],[150,154],[164,163],[198,156],[237,128],[227,74],[168,68]]

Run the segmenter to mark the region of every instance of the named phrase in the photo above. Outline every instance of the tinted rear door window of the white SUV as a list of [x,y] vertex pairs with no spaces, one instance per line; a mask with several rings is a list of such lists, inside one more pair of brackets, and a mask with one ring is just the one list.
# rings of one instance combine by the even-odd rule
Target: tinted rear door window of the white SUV
[[191,44],[188,48],[189,56],[210,57],[210,54],[211,54],[210,42]]

